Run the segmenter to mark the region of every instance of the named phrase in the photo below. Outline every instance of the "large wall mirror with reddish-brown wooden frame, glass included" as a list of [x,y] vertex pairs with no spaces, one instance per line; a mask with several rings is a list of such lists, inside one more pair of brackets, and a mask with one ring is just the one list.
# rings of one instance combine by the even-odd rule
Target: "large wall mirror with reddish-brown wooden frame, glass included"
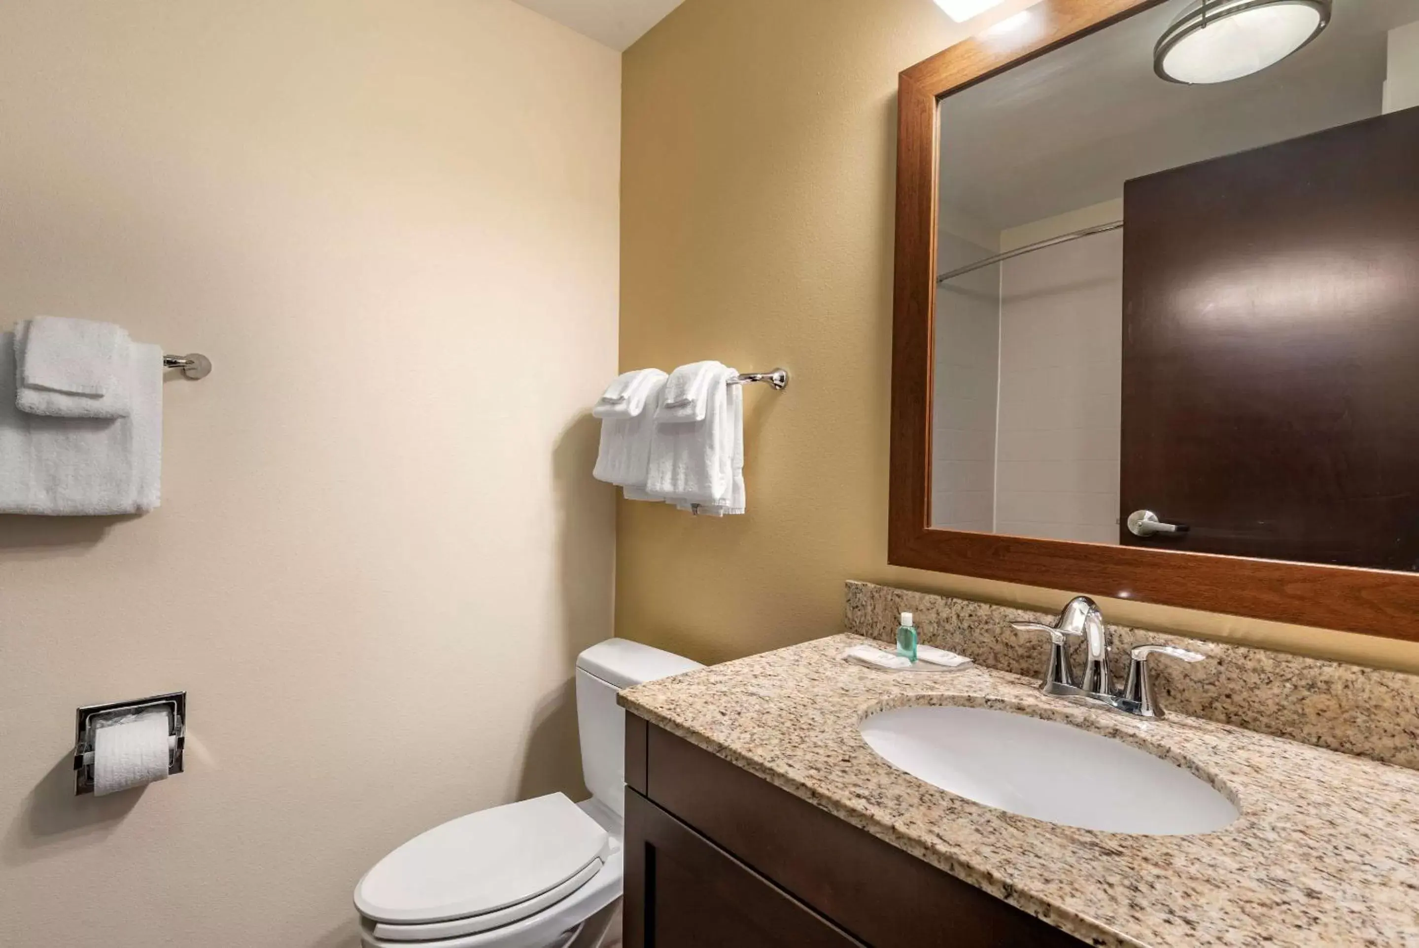
[[1419,640],[1419,0],[1331,1],[1229,82],[1155,61],[1196,0],[901,74],[891,563]]

